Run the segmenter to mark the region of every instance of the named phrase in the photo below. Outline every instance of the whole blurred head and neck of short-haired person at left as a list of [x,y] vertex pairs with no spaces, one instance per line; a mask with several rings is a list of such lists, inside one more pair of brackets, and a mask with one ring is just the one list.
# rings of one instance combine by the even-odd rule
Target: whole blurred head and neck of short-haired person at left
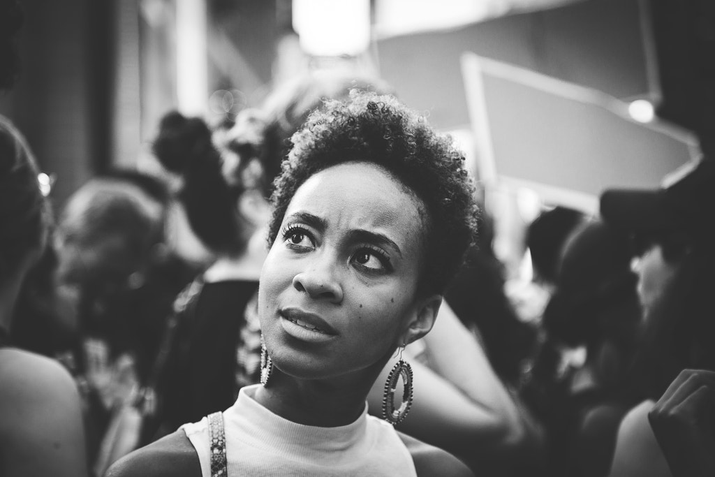
[[115,354],[151,354],[169,311],[161,304],[178,291],[164,299],[158,290],[170,285],[155,276],[169,260],[163,197],[151,177],[117,172],[86,182],[59,215],[61,296],[75,310],[79,333],[105,340]]

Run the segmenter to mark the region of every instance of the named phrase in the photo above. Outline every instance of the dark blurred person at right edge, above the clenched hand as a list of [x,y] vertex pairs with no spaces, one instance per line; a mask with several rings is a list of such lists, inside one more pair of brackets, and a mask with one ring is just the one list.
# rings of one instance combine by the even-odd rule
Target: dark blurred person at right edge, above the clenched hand
[[642,402],[621,421],[611,477],[671,475],[649,413],[683,370],[715,370],[714,207],[715,163],[709,157],[669,174],[660,189],[601,195],[603,219],[633,234],[644,314],[631,378]]

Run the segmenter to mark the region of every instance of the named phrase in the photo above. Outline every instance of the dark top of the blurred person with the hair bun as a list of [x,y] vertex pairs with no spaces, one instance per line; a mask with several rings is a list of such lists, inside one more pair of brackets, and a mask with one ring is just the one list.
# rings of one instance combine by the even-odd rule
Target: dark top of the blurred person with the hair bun
[[240,359],[245,346],[260,353],[260,341],[245,343],[243,333],[257,288],[256,281],[199,278],[179,294],[157,367],[159,435],[225,410],[242,385],[258,382],[257,364],[247,366],[255,369],[248,370],[250,382],[242,382],[247,370]]

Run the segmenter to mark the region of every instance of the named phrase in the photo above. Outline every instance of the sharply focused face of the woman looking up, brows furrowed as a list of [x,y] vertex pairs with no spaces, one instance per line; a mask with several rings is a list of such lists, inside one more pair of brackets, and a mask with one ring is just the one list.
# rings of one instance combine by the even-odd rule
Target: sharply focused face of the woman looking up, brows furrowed
[[415,338],[410,323],[434,308],[416,294],[422,207],[366,163],[330,167],[297,190],[260,277],[262,333],[280,370],[307,379],[374,370]]

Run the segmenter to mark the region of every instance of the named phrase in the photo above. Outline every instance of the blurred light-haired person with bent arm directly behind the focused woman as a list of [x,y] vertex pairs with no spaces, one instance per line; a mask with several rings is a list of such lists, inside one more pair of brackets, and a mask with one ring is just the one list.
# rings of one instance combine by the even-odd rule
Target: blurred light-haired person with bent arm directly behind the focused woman
[[[239,167],[233,170],[241,174],[234,172],[227,175],[245,177],[247,171],[262,172],[257,176],[260,180],[251,180],[251,184],[245,179],[235,181],[243,182],[247,192],[258,195],[256,202],[260,204],[263,195],[270,195],[272,183],[280,173],[282,159],[290,151],[290,138],[305,124],[310,112],[320,107],[325,99],[347,99],[352,89],[364,89],[376,94],[391,94],[393,91],[378,78],[355,77],[345,72],[312,72],[278,85],[259,111],[244,109],[236,118],[235,126],[218,141],[223,144],[223,149],[240,156],[240,162],[237,162]],[[230,160],[231,154],[222,156],[225,166],[236,163]],[[227,169],[231,170],[225,167],[225,171]],[[258,191],[255,190],[257,186],[261,186]],[[255,203],[252,207],[256,208]],[[260,210],[260,207],[257,208]],[[484,240],[488,238],[484,232],[480,227],[479,248],[482,252],[485,250]],[[264,227],[256,234],[262,241],[265,240]],[[265,253],[261,255],[261,260],[263,257]],[[468,252],[466,260],[469,261],[469,258]],[[469,265],[465,265],[461,272],[468,268]],[[483,275],[481,270],[472,272],[478,272],[480,277]],[[520,408],[518,397],[508,388],[508,383],[502,382],[500,378],[503,376],[498,375],[498,355],[505,353],[501,349],[505,347],[498,345],[496,348],[501,346],[500,349],[491,349],[489,330],[479,329],[485,338],[482,343],[460,321],[460,318],[473,320],[471,315],[475,314],[475,308],[466,311],[463,306],[454,311],[450,308],[449,305],[453,304],[450,297],[455,297],[454,285],[459,279],[460,272],[452,280],[451,296],[450,292],[445,295],[434,328],[425,338],[404,350],[403,355],[410,358],[415,381],[420,383],[420,399],[410,408],[410,418],[397,428],[420,441],[453,453],[475,472],[492,476],[533,472],[534,466],[541,460],[541,429],[531,420],[526,409]],[[482,295],[490,295],[493,290],[487,290],[482,285],[463,283],[462,289],[470,288],[470,295],[475,295],[473,290],[479,289],[478,295],[488,301]],[[490,313],[493,310],[478,307],[478,314]],[[503,317],[491,319],[497,318]],[[368,394],[368,410],[378,417],[383,404],[385,380],[397,362],[395,356],[385,365]]]

